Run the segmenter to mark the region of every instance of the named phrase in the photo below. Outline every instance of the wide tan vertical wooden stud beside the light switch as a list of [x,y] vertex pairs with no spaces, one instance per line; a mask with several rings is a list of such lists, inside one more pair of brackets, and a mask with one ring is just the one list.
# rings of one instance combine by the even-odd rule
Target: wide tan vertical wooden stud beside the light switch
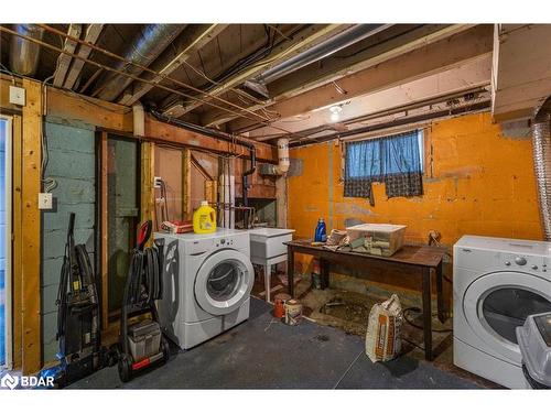
[[22,139],[22,370],[23,374],[37,372],[42,367],[41,337],[41,84],[23,79],[26,105],[23,107]]

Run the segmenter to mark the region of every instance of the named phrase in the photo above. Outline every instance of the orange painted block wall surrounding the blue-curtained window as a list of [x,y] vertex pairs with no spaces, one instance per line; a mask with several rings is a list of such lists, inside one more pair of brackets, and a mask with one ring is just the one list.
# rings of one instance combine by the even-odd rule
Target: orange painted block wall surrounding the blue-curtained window
[[424,195],[387,199],[383,184],[376,184],[374,207],[343,197],[342,146],[292,150],[291,157],[303,163],[302,175],[289,177],[295,238],[311,238],[318,217],[328,229],[344,228],[344,220],[355,217],[407,225],[412,242],[426,242],[431,229],[447,246],[467,233],[542,239],[530,139],[506,137],[489,113],[477,113],[433,123],[424,144]]

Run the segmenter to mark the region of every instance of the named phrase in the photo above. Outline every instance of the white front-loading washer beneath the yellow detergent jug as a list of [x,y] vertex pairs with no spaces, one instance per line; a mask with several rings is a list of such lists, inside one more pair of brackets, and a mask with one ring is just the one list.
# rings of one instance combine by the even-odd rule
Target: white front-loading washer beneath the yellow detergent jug
[[154,237],[164,240],[158,309],[169,338],[188,349],[249,317],[255,272],[248,231]]

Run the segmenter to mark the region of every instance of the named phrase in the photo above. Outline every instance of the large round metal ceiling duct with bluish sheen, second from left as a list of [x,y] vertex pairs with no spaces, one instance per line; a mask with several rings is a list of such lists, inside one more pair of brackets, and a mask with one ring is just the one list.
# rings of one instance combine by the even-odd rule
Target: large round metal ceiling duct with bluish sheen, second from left
[[[125,58],[148,67],[182,32],[182,24],[147,24],[132,42]],[[120,62],[117,69],[139,76],[143,70],[132,64]],[[115,100],[133,80],[127,76],[110,74],[99,83],[94,96],[99,99]]]

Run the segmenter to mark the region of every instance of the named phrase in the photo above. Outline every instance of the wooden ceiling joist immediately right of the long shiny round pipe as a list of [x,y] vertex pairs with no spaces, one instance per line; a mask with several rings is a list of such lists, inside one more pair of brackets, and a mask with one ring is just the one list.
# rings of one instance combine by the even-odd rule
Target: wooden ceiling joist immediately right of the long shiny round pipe
[[[353,56],[345,58],[327,59],[323,65],[307,67],[300,73],[295,73],[293,76],[289,76],[273,85],[269,85],[269,91],[273,95],[270,101],[264,105],[251,105],[249,109],[258,110],[262,107],[300,95],[317,86],[335,80],[338,83],[338,79],[344,76],[441,41],[472,26],[472,24],[426,24],[407,33],[399,34],[398,31],[403,29],[400,25],[395,25],[383,33],[376,34],[372,39],[374,45],[366,47],[365,51],[355,53]],[[215,127],[234,119],[237,119],[237,117],[220,110],[209,110],[202,117],[202,124]]]

